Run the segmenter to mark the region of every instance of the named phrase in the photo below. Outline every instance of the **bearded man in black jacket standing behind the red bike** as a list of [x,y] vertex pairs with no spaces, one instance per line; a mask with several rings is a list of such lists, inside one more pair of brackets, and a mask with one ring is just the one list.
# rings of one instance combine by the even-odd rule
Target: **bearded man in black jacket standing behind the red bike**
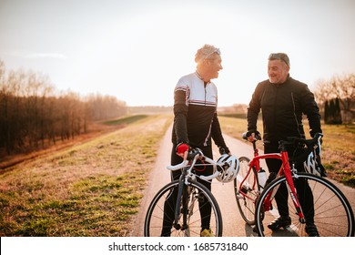
[[[257,131],[257,120],[259,111],[262,112],[264,152],[279,152],[279,140],[288,137],[305,138],[302,124],[302,115],[305,114],[309,120],[310,136],[321,133],[319,107],[314,100],[313,94],[306,84],[299,82],[289,76],[289,56],[284,53],[270,54],[268,64],[269,79],[262,81],[256,87],[248,108],[248,131],[249,140],[255,138]],[[295,148],[289,148],[289,155],[292,155]],[[266,163],[270,176],[275,177],[281,167],[281,161],[268,158]],[[297,162],[296,168],[303,169],[303,163]],[[309,236],[319,236],[314,225],[313,196],[307,186],[305,201],[300,201],[309,208],[306,217],[306,232]],[[279,215],[269,224],[270,230],[279,230],[290,225],[287,188],[280,187],[275,196],[278,204]],[[285,199],[286,198],[286,199]]]

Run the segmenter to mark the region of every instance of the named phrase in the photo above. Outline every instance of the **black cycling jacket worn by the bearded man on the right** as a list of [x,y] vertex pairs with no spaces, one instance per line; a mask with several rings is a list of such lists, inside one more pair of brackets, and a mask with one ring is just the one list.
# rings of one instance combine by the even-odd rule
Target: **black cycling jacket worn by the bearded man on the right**
[[309,87],[291,78],[283,84],[272,84],[269,80],[256,87],[248,108],[248,130],[257,130],[261,109],[263,139],[266,144],[278,144],[287,137],[305,138],[302,114],[309,119],[310,136],[321,133],[320,109]]

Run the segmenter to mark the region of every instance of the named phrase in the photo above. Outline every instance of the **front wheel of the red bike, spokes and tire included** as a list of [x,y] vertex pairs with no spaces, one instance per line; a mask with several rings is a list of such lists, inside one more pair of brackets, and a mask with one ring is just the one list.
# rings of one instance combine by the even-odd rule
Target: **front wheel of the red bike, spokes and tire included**
[[[297,189],[299,203],[305,216],[306,223],[300,222],[297,210],[289,197],[285,177],[273,180],[261,193],[256,206],[256,230],[259,236],[266,237],[304,237],[307,222],[314,222],[321,237],[351,237],[354,236],[354,215],[348,199],[329,180],[308,173],[299,173],[293,177]],[[282,186],[284,188],[282,188]],[[278,203],[272,200],[271,207],[266,206],[273,190],[276,192]],[[286,189],[286,193],[281,189]],[[274,192],[275,193],[275,192]],[[267,210],[267,211],[266,211]],[[270,230],[269,223],[278,218],[282,211],[288,210],[291,223],[279,230]]]

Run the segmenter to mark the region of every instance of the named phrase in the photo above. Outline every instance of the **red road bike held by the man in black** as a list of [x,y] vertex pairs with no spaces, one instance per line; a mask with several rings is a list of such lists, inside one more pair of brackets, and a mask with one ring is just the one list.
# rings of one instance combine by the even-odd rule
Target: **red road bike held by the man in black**
[[[312,139],[290,138],[280,141],[280,153],[264,155],[259,155],[257,141],[254,141],[254,158],[239,158],[238,176],[234,180],[238,209],[249,225],[255,225],[254,230],[259,236],[308,236],[305,223],[307,215],[312,212],[303,203],[306,189],[310,189],[313,196],[314,223],[320,236],[354,236],[354,215],[348,199],[332,182],[320,176],[320,161],[317,160],[317,155],[320,154],[321,137],[321,134],[317,134]],[[246,134],[243,138],[246,138]],[[290,145],[298,146],[304,152],[298,158],[289,158],[287,147]],[[266,186],[260,183],[258,178],[261,172],[260,160],[265,158],[277,158],[282,161],[276,179]],[[305,159],[307,172],[295,168],[294,162],[299,161],[299,158]],[[292,223],[283,230],[269,230],[269,223],[279,217],[274,198],[281,186],[288,189],[284,199],[288,201]]]

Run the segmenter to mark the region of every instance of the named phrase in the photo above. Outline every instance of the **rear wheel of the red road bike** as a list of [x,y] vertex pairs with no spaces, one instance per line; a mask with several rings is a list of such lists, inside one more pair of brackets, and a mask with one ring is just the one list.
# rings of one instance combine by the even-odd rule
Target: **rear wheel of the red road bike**
[[241,217],[249,225],[255,224],[255,204],[259,197],[259,180],[257,170],[252,168],[248,179],[243,184],[243,190],[240,190],[240,183],[247,176],[249,171],[250,159],[247,157],[239,158],[239,170],[237,178],[234,179],[234,194]]

